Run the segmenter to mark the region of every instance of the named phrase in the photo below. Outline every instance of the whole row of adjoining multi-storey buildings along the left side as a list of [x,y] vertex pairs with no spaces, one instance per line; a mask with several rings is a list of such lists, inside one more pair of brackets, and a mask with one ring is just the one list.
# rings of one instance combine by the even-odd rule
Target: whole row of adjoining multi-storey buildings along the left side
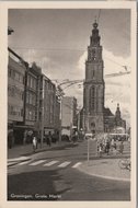
[[[30,67],[9,48],[8,65],[8,140],[14,143],[32,142],[38,138],[59,135],[60,103],[55,84],[33,62]],[[12,142],[11,142],[12,141]]]

